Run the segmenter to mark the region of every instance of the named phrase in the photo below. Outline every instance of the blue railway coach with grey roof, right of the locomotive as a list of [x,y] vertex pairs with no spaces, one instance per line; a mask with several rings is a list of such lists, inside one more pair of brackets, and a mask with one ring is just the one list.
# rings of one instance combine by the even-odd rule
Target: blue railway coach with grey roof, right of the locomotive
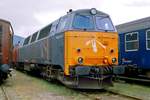
[[119,63],[126,74],[150,76],[150,17],[116,26],[119,33]]

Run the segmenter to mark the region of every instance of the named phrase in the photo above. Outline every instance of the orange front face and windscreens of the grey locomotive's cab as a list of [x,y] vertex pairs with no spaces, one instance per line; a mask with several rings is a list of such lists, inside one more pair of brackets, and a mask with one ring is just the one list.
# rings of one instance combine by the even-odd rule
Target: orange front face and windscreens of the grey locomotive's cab
[[[66,66],[118,64],[118,34],[110,17],[96,12],[92,9],[73,15],[71,30],[64,33]],[[66,69],[66,75],[69,74],[67,71]]]

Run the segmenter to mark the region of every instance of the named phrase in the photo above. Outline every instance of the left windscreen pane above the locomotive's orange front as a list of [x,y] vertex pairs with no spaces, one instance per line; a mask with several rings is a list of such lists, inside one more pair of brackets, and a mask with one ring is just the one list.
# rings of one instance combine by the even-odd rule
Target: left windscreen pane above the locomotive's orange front
[[94,29],[93,17],[77,14],[74,17],[72,26],[75,29]]

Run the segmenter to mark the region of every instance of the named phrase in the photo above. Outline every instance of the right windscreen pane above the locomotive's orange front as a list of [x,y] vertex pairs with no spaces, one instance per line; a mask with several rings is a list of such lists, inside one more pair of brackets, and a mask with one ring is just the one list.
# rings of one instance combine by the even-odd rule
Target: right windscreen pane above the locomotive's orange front
[[109,17],[96,16],[96,27],[99,30],[114,31],[114,26]]

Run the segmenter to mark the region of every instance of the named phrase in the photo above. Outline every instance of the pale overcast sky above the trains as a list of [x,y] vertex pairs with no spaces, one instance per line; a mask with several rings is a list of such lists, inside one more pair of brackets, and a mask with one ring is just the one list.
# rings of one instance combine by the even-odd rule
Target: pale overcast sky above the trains
[[69,9],[83,8],[108,13],[115,25],[150,16],[150,0],[0,0],[0,18],[11,21],[16,35],[27,37]]

